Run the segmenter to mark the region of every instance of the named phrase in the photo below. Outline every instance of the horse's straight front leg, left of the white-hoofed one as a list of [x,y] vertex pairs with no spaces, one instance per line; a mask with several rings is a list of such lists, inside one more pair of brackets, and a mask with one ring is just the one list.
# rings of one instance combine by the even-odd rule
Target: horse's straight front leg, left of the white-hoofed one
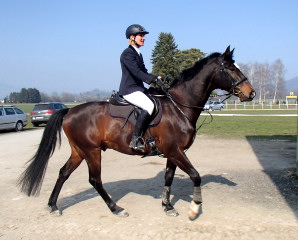
[[176,165],[173,164],[169,159],[167,160],[166,173],[165,173],[165,185],[162,192],[162,207],[168,216],[176,217],[179,213],[171,204],[171,186],[175,176]]

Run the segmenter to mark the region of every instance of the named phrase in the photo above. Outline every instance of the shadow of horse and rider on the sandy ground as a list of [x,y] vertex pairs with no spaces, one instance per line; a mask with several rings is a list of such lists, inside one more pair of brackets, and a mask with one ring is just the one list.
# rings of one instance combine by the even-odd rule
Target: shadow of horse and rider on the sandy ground
[[[112,196],[112,199],[117,202],[128,193],[136,193],[140,195],[151,196],[155,199],[161,199],[161,193],[164,185],[165,171],[160,171],[155,177],[149,179],[129,179],[117,182],[109,182],[103,184],[105,190]],[[228,186],[236,186],[237,184],[221,175],[205,175],[202,177],[202,186],[208,183],[219,183]],[[176,174],[173,182],[171,195],[173,196],[171,203],[174,205],[178,200],[190,202],[192,200],[193,184],[188,177]],[[99,194],[94,188],[77,193],[72,196],[62,198],[58,201],[60,211],[86,201],[88,199],[98,197]]]

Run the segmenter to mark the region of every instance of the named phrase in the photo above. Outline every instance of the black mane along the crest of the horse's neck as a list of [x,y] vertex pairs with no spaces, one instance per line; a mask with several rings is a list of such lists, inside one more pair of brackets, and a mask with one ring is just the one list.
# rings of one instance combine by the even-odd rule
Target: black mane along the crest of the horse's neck
[[189,81],[193,79],[207,64],[210,59],[218,58],[221,54],[220,53],[212,53],[205,58],[200,59],[197,61],[192,67],[183,70],[172,82],[171,87],[182,82]]

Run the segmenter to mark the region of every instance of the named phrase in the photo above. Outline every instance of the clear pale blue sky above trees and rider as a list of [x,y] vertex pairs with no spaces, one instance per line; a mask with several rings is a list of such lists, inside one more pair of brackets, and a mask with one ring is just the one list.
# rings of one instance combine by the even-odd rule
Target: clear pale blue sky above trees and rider
[[21,88],[44,93],[118,90],[125,30],[149,31],[143,54],[161,32],[179,50],[224,52],[237,63],[280,59],[285,79],[298,76],[297,0],[0,0],[0,98]]

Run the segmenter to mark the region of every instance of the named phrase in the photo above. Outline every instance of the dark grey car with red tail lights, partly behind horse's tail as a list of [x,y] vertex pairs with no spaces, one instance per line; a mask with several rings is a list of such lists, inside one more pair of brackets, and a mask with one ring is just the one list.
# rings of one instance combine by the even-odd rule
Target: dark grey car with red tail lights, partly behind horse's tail
[[47,123],[54,112],[67,108],[60,102],[38,103],[35,104],[30,112],[33,126],[38,127],[42,123]]

